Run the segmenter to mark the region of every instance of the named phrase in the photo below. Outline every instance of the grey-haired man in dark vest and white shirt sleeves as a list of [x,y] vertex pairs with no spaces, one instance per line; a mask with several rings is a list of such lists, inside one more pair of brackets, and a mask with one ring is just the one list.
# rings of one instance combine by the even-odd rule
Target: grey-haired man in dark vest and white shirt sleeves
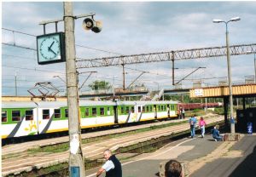
[[105,150],[103,156],[107,162],[99,169],[96,177],[100,176],[104,171],[106,172],[106,177],[122,177],[122,166],[119,159],[112,155],[110,150]]

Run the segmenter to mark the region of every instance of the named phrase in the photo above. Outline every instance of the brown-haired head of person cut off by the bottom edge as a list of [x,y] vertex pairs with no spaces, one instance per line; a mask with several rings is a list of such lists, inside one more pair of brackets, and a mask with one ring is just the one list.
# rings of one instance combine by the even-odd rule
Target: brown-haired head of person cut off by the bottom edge
[[170,160],[165,166],[166,177],[183,177],[183,168],[181,163],[176,160]]

